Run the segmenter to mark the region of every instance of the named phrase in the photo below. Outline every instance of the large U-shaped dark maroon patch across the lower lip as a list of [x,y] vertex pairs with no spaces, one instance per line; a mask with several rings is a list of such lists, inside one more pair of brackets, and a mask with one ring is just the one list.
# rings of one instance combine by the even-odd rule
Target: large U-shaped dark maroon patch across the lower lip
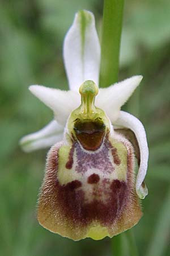
[[92,220],[99,220],[101,224],[112,224],[125,207],[127,187],[123,181],[112,181],[105,202],[94,199],[90,203],[85,203],[84,192],[76,188],[73,189],[71,184],[64,186],[58,184],[57,200],[63,214],[74,220],[76,224],[80,222],[86,225]]

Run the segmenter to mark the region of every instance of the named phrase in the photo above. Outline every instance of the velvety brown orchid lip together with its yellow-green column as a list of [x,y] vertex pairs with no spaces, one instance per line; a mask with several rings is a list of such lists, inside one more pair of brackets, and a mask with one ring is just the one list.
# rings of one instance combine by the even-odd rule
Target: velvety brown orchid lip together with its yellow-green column
[[91,80],[79,89],[64,139],[46,162],[37,218],[44,228],[73,240],[100,240],[131,228],[142,216],[135,190],[134,148],[95,106]]

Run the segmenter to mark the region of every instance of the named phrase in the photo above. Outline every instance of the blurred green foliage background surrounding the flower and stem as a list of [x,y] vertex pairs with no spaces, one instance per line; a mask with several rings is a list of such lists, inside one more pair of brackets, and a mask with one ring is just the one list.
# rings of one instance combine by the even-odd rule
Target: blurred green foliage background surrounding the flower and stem
[[[93,11],[101,31],[103,1],[1,0],[0,5],[0,255],[111,256],[109,238],[73,242],[37,223],[47,150],[25,154],[18,146],[23,135],[53,117],[28,85],[67,89],[64,35],[79,9]],[[144,79],[124,109],[141,119],[150,147],[149,195],[142,201],[143,217],[133,228],[139,253],[145,256],[170,255],[169,14],[169,0],[125,1],[120,80],[137,74]],[[125,251],[125,256],[131,255]]]

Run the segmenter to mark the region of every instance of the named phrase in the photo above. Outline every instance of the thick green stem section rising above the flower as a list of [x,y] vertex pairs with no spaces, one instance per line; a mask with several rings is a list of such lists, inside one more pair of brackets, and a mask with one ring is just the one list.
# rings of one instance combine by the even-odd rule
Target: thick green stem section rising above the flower
[[124,0],[105,0],[101,36],[100,87],[118,80]]

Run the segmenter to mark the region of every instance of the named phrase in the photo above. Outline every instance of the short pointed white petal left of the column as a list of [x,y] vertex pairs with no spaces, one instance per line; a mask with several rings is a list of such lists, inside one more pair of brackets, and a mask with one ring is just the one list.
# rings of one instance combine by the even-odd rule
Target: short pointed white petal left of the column
[[66,125],[70,113],[80,105],[79,94],[41,85],[31,85],[29,90],[54,112],[57,122]]

